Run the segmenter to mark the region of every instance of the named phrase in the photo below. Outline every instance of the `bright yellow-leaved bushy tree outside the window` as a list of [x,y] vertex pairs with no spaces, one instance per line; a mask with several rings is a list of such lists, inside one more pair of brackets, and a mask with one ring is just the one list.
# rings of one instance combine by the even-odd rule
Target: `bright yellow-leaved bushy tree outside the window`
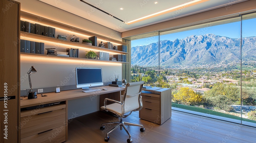
[[173,100],[185,105],[195,105],[202,101],[202,96],[188,87],[182,87],[173,95]]

